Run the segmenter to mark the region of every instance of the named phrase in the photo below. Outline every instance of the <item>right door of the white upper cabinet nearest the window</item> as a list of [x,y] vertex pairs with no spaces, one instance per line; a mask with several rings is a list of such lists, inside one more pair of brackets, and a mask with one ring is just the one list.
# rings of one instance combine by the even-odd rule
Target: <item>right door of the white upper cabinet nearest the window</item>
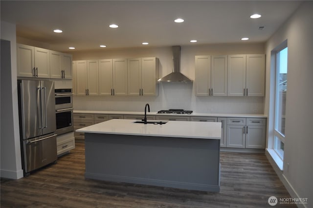
[[265,54],[246,55],[246,94],[264,96]]

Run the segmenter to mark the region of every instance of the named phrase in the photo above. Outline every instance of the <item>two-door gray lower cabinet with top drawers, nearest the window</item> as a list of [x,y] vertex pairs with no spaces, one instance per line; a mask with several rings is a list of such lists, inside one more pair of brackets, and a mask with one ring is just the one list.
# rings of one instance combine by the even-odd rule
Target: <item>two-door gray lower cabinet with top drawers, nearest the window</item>
[[265,118],[227,118],[226,147],[265,148]]

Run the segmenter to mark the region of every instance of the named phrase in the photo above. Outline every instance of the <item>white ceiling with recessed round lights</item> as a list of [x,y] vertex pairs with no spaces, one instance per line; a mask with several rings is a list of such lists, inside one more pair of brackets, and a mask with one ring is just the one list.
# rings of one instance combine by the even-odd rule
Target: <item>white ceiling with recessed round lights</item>
[[[69,51],[124,47],[265,42],[300,5],[299,0],[1,0],[1,21],[17,35]],[[259,13],[260,19],[250,19]],[[184,23],[174,23],[177,18]],[[112,29],[109,24],[119,27]],[[259,30],[259,26],[265,26]],[[60,28],[63,33],[52,30]],[[197,43],[190,43],[192,39]],[[141,45],[149,42],[148,46]]]

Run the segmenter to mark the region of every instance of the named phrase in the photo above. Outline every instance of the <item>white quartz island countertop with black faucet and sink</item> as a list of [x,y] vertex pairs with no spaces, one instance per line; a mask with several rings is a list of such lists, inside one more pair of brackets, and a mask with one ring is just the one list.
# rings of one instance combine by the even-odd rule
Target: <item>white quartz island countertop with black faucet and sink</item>
[[76,132],[195,139],[221,139],[222,134],[221,122],[166,121],[166,124],[155,125],[134,121],[136,120],[112,119],[77,129]]

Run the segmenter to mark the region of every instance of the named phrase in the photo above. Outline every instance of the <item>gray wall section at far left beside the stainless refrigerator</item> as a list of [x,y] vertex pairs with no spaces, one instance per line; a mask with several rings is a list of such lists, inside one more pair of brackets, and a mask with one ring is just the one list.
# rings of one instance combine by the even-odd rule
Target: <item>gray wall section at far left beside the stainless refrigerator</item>
[[23,171],[19,132],[15,24],[1,21],[1,39],[10,41],[11,54],[6,55],[11,56],[11,63],[2,65],[1,54],[0,174],[4,178],[19,179],[23,177]]

